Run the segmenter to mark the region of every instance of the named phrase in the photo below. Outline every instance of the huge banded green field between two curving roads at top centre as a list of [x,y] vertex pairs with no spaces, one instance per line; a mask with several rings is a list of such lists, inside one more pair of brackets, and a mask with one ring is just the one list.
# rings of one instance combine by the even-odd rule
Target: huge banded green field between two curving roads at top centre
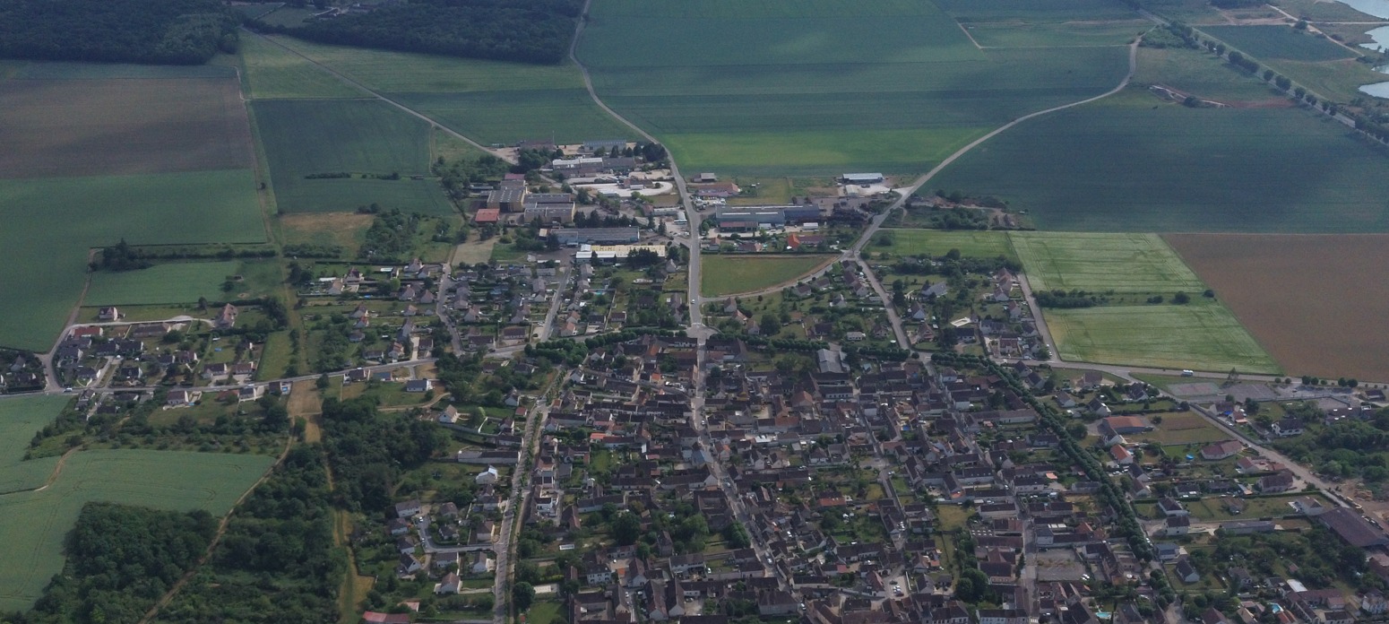
[[[1124,25],[1136,17],[1118,3],[1090,4]],[[1057,3],[996,7],[1003,13],[989,19],[1025,14],[1046,31],[1003,43],[1061,47],[981,50],[949,8],[921,1],[597,0],[576,53],[603,100],[661,139],[682,167],[913,174],[1011,118],[1122,78],[1125,36],[1095,35],[1110,26],[1063,25],[1075,11]],[[713,33],[724,44],[710,47]],[[1114,44],[1085,47],[1097,40]]]

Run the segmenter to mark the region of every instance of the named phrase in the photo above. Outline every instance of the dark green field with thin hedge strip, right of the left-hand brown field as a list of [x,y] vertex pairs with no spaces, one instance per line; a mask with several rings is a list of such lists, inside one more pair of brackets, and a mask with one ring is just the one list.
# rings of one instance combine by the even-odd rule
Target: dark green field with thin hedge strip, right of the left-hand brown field
[[[428,178],[426,122],[379,100],[260,100],[251,107],[281,211],[353,211],[378,203],[425,214],[453,213],[439,183]],[[304,178],[336,172],[353,176]],[[361,178],[390,174],[401,179]]]

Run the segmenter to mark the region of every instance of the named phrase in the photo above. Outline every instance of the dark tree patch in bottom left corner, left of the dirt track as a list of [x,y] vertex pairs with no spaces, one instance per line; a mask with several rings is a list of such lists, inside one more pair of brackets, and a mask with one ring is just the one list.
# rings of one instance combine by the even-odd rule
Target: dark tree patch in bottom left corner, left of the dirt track
[[68,534],[63,573],[32,611],[13,621],[139,621],[207,550],[215,532],[217,518],[207,511],[88,503]]

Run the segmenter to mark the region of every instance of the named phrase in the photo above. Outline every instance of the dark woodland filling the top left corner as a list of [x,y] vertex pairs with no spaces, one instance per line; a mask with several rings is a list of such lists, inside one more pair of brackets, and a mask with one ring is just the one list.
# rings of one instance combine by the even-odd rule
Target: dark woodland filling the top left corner
[[236,51],[236,26],[218,0],[7,0],[0,57],[200,65]]

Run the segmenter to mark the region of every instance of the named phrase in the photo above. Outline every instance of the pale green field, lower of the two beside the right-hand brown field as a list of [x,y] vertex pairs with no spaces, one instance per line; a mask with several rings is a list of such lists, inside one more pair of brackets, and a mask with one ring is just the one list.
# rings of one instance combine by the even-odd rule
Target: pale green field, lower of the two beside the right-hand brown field
[[1281,372],[1235,315],[1214,302],[1047,310],[1045,317],[1063,360]]

